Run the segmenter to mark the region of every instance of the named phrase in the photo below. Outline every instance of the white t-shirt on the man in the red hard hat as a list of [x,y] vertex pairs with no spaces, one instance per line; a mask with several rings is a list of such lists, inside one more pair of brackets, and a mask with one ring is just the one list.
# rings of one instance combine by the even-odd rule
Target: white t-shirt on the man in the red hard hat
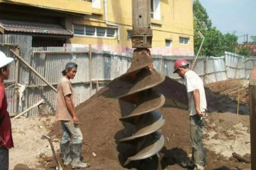
[[198,89],[200,93],[200,111],[204,112],[207,110],[207,103],[205,98],[204,86],[202,79],[192,70],[189,70],[185,73],[185,85],[187,88],[187,96],[188,96],[188,106],[190,116],[194,116],[197,114],[195,101],[193,98],[193,91]]

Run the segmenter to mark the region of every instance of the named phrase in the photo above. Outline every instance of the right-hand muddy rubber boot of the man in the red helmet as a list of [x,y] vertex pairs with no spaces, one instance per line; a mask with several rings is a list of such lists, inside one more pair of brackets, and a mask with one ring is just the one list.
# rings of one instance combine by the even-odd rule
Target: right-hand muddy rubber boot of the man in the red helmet
[[196,149],[195,150],[195,165],[197,170],[204,170],[206,162],[206,152],[207,149]]

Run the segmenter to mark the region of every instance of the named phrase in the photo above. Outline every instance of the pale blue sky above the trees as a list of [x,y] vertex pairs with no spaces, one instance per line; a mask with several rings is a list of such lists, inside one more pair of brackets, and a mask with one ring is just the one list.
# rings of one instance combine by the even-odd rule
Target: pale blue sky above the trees
[[[256,0],[199,0],[206,8],[209,18],[222,33],[235,32],[239,43],[244,34],[256,36]],[[246,40],[246,37],[245,37]]]

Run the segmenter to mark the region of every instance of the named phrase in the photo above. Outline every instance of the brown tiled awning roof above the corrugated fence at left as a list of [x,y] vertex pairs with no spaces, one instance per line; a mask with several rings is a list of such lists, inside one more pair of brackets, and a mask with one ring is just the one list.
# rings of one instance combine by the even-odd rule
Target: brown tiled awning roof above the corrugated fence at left
[[[57,35],[57,36],[73,36],[73,33],[59,24],[29,22],[0,19],[0,32],[3,34],[20,34],[27,33],[29,35]],[[25,34],[26,35],[26,34]]]

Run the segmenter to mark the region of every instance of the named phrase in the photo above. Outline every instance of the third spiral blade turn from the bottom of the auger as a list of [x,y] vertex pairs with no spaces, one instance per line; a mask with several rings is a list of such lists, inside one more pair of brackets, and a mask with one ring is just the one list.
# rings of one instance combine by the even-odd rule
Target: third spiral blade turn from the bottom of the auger
[[139,103],[136,104],[134,109],[131,112],[126,113],[125,116],[123,115],[119,120],[131,123],[133,122],[132,117],[154,111],[155,109],[162,107],[164,104],[165,97],[162,94],[153,91],[149,96],[143,96],[140,98]]

